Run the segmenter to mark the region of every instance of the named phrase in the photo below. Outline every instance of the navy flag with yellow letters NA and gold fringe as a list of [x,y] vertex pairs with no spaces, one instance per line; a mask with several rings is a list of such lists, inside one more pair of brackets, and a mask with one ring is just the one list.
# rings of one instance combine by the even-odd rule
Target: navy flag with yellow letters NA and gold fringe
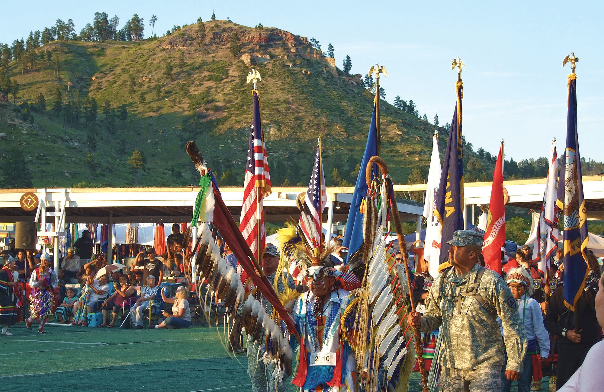
[[453,239],[455,230],[463,229],[463,143],[461,139],[461,99],[463,90],[461,80],[457,82],[457,103],[451,121],[451,130],[440,174],[439,193],[436,197],[434,218],[440,224],[439,272],[451,267],[448,262],[449,247],[447,241]]

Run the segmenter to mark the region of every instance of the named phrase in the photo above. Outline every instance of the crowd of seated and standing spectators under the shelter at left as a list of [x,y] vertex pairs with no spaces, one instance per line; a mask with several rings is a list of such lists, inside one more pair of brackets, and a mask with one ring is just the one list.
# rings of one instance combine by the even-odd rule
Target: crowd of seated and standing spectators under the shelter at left
[[[167,238],[167,251],[161,258],[150,248],[138,253],[127,270],[112,273],[106,270],[106,254],[93,253],[94,242],[88,230],[59,258],[58,274],[53,258],[46,252],[3,251],[0,254],[4,259],[0,270],[2,335],[12,335],[10,326],[22,320],[30,331],[32,324],[39,321],[38,332],[43,334],[49,317],[54,316],[54,321],[61,324],[88,326],[89,315],[96,314],[102,320],[98,327],[132,325],[141,329],[145,318],[150,323],[149,308],[158,314],[159,327],[188,327],[192,289],[187,259],[190,250],[182,248],[184,235],[179,230],[180,225],[174,224]],[[160,290],[164,276],[180,280],[182,288],[176,290],[176,300],[167,296],[168,285]],[[164,304],[173,304],[172,309],[164,309]],[[120,315],[129,317],[126,321],[130,322],[124,322],[124,317],[120,320]],[[118,321],[120,324],[116,325]]]

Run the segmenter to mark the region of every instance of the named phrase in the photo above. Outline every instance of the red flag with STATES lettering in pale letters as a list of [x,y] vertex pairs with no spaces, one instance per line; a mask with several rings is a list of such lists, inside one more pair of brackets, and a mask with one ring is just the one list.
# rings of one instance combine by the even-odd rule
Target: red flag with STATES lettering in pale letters
[[489,201],[489,218],[484,231],[483,256],[484,266],[501,274],[501,248],[506,245],[506,206],[503,197],[503,142],[499,148],[491,197]]

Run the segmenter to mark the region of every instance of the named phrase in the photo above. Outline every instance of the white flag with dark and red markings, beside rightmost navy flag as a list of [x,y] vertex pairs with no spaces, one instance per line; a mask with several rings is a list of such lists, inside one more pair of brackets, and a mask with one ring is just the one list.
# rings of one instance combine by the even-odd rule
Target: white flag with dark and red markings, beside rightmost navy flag
[[556,139],[551,142],[550,166],[547,170],[547,181],[543,195],[543,205],[539,213],[535,245],[533,247],[533,263],[543,275],[542,284],[547,282],[547,270],[550,267],[550,259],[558,248],[558,222],[554,220],[558,188],[558,157],[556,153]]

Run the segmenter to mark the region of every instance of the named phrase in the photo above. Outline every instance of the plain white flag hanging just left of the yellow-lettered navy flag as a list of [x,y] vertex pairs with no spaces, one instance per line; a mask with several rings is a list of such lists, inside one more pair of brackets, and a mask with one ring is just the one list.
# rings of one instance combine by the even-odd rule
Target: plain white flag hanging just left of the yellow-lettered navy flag
[[[432,277],[439,275],[440,227],[434,217],[434,207],[436,205],[436,195],[439,193],[441,171],[439,139],[437,134],[434,134],[434,139],[432,139],[432,157],[428,171],[428,186],[426,187],[426,200],[423,204],[423,216],[428,220],[423,258],[428,262],[429,273]],[[431,260],[433,262],[430,262]]]

